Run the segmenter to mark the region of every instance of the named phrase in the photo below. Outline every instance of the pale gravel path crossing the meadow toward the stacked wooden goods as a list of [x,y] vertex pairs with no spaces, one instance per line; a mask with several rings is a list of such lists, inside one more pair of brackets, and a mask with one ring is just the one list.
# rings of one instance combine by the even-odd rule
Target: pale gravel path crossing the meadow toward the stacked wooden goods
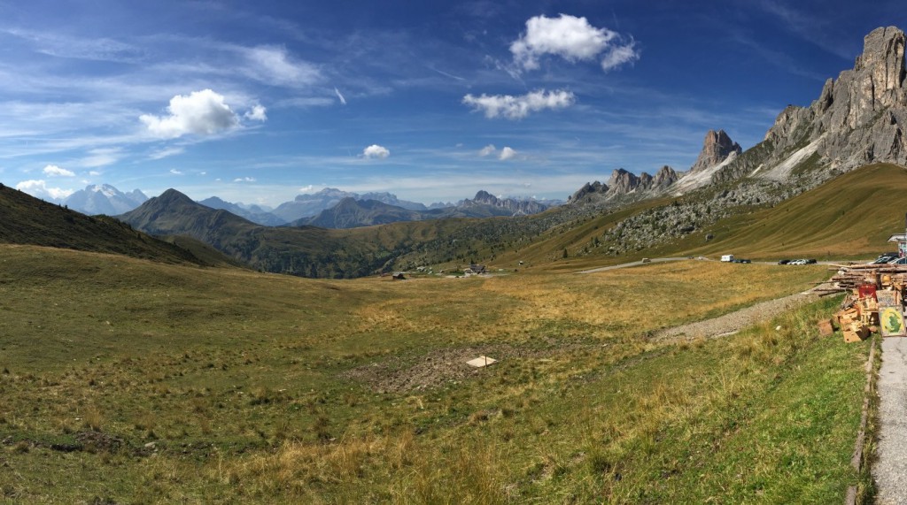
[[692,340],[699,337],[715,338],[732,335],[747,326],[771,319],[785,310],[795,309],[807,301],[815,300],[817,296],[812,291],[804,291],[775,300],[760,301],[756,305],[736,310],[724,316],[662,329],[655,334],[655,339],[687,338]]

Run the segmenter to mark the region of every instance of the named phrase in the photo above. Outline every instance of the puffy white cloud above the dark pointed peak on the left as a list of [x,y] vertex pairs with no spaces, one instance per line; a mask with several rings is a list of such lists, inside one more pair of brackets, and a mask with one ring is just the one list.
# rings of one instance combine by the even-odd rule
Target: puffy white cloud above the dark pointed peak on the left
[[167,111],[169,116],[142,114],[139,119],[152,135],[160,138],[177,138],[187,133],[212,135],[239,125],[239,118],[224,102],[223,95],[211,90],[176,95]]

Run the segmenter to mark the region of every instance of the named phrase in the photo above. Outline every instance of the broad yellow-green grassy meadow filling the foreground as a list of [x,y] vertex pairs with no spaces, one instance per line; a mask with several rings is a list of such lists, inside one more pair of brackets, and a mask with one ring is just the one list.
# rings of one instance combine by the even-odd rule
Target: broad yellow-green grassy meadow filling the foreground
[[0,502],[835,502],[868,482],[849,461],[871,344],[815,329],[839,300],[650,338],[824,266],[533,270],[316,281],[0,245]]

